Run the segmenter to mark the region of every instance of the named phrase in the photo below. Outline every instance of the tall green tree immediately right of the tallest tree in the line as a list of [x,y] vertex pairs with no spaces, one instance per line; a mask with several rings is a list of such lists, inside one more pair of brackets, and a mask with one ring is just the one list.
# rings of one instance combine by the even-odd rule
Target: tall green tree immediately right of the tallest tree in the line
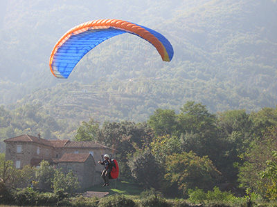
[[222,141],[217,167],[228,181],[234,183],[238,179],[238,168],[234,164],[242,164],[240,155],[253,141],[253,121],[245,110],[229,110],[218,113],[217,127]]

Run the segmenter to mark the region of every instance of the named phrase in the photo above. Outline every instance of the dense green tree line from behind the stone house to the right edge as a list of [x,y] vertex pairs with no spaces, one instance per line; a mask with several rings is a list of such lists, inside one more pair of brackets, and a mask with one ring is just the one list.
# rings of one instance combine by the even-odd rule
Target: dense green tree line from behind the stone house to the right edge
[[276,108],[211,114],[202,103],[188,101],[179,114],[159,108],[143,123],[91,119],[75,140],[116,148],[120,179],[146,188],[186,195],[188,189],[227,183],[275,198],[276,129]]

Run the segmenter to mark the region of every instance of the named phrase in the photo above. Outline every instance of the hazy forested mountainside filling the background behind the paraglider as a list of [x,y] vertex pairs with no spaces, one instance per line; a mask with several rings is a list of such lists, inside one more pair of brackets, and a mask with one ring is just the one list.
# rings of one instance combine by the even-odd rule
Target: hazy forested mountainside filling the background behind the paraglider
[[[211,112],[276,106],[277,3],[273,0],[1,1],[0,103],[42,104],[59,119],[143,121],[157,108],[202,102]],[[123,19],[164,34],[170,63],[123,34],[53,77],[48,59],[67,30]]]

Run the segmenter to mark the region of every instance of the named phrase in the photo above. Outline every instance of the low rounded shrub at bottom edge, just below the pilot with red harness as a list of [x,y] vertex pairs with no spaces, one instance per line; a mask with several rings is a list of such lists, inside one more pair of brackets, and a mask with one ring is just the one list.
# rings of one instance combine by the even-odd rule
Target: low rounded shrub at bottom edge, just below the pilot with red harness
[[135,203],[132,199],[127,199],[123,195],[111,195],[109,197],[103,197],[98,204],[99,207],[134,207]]

